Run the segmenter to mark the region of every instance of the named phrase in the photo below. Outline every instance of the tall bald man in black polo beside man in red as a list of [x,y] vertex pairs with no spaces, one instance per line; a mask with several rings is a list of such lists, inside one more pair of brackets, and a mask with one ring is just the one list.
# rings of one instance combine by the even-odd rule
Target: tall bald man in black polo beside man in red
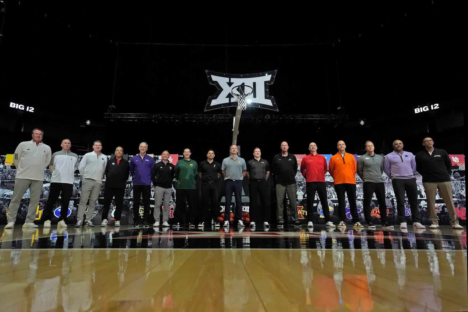
[[281,152],[271,162],[271,172],[275,175],[276,185],[276,216],[277,227],[282,229],[284,227],[284,199],[285,194],[288,195],[289,209],[291,210],[292,222],[294,227],[300,228],[302,225],[299,223],[297,214],[297,199],[296,199],[296,174],[297,174],[297,160],[296,156],[288,153],[289,145],[287,142],[281,142]]

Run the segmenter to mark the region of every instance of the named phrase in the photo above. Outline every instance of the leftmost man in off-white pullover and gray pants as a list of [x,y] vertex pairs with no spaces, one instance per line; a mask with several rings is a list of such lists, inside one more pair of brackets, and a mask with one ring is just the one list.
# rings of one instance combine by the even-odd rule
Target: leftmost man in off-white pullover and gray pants
[[51,148],[42,143],[44,131],[36,128],[32,131],[32,140],[21,142],[15,150],[13,163],[16,167],[15,188],[8,206],[8,222],[6,229],[12,229],[15,225],[16,215],[20,207],[21,199],[29,188],[28,215],[23,227],[37,227],[34,224],[37,205],[42,192],[44,181],[44,168],[51,161]]

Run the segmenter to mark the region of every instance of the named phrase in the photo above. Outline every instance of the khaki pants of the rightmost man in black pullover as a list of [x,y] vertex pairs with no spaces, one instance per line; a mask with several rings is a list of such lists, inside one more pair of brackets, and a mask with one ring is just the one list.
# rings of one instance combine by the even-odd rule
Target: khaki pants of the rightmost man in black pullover
[[432,224],[439,224],[435,210],[437,189],[439,189],[439,194],[446,204],[450,217],[450,224],[458,224],[455,208],[453,206],[452,184],[450,182],[423,182],[423,186],[427,198],[427,211],[429,212],[429,218]]

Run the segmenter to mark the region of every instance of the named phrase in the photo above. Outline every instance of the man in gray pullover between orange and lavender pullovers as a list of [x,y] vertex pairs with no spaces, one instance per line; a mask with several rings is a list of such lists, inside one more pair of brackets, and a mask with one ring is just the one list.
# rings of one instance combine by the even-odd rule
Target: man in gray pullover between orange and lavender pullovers
[[387,222],[387,204],[385,203],[385,185],[383,183],[383,165],[384,158],[374,153],[374,144],[367,141],[365,144],[366,154],[358,158],[358,175],[361,177],[364,190],[363,208],[364,217],[366,218],[367,226],[370,229],[375,229],[371,218],[371,201],[375,193],[379,202],[380,220],[382,227],[393,228],[393,225]]

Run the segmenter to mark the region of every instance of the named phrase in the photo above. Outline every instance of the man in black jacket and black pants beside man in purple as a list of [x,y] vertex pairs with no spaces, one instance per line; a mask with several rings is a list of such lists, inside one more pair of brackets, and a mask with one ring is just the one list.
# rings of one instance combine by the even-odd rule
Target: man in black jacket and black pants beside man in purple
[[117,146],[115,157],[107,161],[104,171],[106,183],[104,184],[104,208],[102,209],[101,227],[106,227],[108,223],[109,207],[112,203],[112,198],[116,198],[116,211],[114,218],[116,227],[120,226],[120,216],[122,214],[122,205],[124,203],[125,186],[127,185],[130,166],[128,160],[125,160],[122,155],[124,149]]

